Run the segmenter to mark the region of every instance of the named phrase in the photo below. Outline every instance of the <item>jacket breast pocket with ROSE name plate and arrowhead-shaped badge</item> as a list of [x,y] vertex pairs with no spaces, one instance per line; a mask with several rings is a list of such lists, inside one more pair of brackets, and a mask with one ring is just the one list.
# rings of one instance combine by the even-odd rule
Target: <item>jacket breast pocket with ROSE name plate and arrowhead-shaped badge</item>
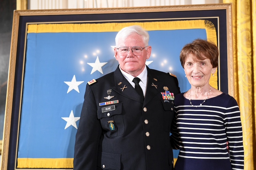
[[101,120],[101,127],[106,130],[110,137],[124,134],[124,119],[121,103],[98,107],[97,117]]

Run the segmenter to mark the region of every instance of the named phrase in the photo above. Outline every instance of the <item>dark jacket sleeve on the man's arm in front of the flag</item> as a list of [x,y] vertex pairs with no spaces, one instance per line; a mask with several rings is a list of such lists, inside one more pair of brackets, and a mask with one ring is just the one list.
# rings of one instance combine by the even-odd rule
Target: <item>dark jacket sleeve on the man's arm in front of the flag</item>
[[74,170],[96,169],[101,124],[92,88],[87,84],[75,139]]

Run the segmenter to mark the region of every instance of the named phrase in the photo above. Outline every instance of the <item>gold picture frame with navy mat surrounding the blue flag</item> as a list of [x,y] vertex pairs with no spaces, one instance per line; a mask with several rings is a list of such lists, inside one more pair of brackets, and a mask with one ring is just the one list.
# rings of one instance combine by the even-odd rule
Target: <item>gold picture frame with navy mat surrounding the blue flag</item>
[[[216,43],[220,50],[216,87],[234,96],[231,4],[14,11],[1,170],[52,169],[27,166],[28,162],[24,163],[25,168],[20,168],[20,165],[17,165],[17,148],[20,142],[19,128],[20,123],[22,123],[20,119],[21,106],[24,98],[23,83],[26,76],[27,35],[29,31],[32,30],[31,32],[33,32],[35,30],[34,26],[37,30],[38,26],[41,27],[43,24],[57,24],[57,27],[62,24],[60,28],[63,28],[65,24],[86,26],[86,24],[112,25],[118,23],[116,26],[118,27],[118,25],[124,26],[127,23],[144,24],[191,20],[204,20],[204,23],[207,20],[213,24],[216,31]],[[67,26],[68,28],[69,26]],[[118,29],[119,27],[113,28],[114,31]],[[155,30],[154,26],[150,29]],[[185,28],[181,27],[179,29]],[[54,32],[55,29],[51,31]],[[87,29],[87,32],[90,31]],[[68,162],[67,164],[72,164],[72,158],[64,158],[58,161],[63,160]],[[31,161],[33,162],[32,159]],[[47,161],[51,162],[49,159]],[[55,167],[54,169],[70,169],[72,168],[70,166]]]

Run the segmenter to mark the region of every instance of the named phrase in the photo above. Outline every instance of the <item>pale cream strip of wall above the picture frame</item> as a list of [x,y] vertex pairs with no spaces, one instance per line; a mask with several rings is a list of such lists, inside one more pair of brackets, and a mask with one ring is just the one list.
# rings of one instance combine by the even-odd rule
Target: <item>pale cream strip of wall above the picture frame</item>
[[222,3],[222,0],[28,0],[28,9],[74,9]]

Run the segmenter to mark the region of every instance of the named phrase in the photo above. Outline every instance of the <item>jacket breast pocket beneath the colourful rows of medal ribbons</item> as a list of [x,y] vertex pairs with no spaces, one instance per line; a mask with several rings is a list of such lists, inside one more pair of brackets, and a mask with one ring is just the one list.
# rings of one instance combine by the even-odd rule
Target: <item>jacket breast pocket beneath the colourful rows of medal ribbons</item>
[[163,117],[164,117],[164,129],[166,132],[170,132],[171,123],[174,115],[173,100],[161,100],[163,104]]

